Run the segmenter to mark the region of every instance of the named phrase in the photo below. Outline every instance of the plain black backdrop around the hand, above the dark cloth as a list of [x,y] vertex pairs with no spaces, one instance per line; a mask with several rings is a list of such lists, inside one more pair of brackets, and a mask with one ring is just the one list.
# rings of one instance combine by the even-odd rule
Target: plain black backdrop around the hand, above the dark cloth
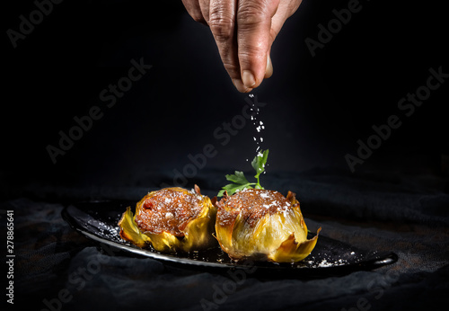
[[[335,18],[348,1],[304,1],[272,49],[274,75],[253,91],[266,126],[268,173],[319,167],[349,172],[344,156],[392,114],[402,125],[357,172],[445,173],[449,153],[446,84],[410,117],[397,103],[426,84],[428,69],[447,58],[443,4],[361,1],[342,30],[312,57],[306,38]],[[64,1],[14,49],[6,31],[36,10],[32,1],[7,4],[4,21],[2,195],[29,185],[127,185],[136,176],[182,172],[188,155],[206,144],[217,154],[207,169],[250,170],[256,131],[251,122],[222,146],[214,131],[242,113],[248,94],[225,73],[206,26],[193,22],[180,1]],[[99,93],[128,76],[131,59],[153,67],[115,106]],[[46,147],[59,131],[98,105],[92,129],[53,164]],[[201,175],[203,170],[198,170]],[[225,180],[224,180],[225,182]]]

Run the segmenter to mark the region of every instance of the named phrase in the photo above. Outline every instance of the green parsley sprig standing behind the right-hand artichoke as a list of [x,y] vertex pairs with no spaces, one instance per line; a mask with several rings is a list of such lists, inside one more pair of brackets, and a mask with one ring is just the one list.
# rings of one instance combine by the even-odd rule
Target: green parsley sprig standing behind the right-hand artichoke
[[233,193],[244,189],[252,189],[252,186],[254,186],[254,189],[263,189],[260,185],[260,174],[265,171],[265,164],[267,164],[268,157],[269,150],[267,149],[265,151],[260,151],[251,162],[252,168],[256,171],[254,177],[257,182],[248,182],[243,172],[235,171],[233,174],[225,176],[226,180],[233,183],[226,184],[225,187],[218,192],[218,196],[222,197],[225,194],[225,191],[227,191],[228,195],[233,195]]

